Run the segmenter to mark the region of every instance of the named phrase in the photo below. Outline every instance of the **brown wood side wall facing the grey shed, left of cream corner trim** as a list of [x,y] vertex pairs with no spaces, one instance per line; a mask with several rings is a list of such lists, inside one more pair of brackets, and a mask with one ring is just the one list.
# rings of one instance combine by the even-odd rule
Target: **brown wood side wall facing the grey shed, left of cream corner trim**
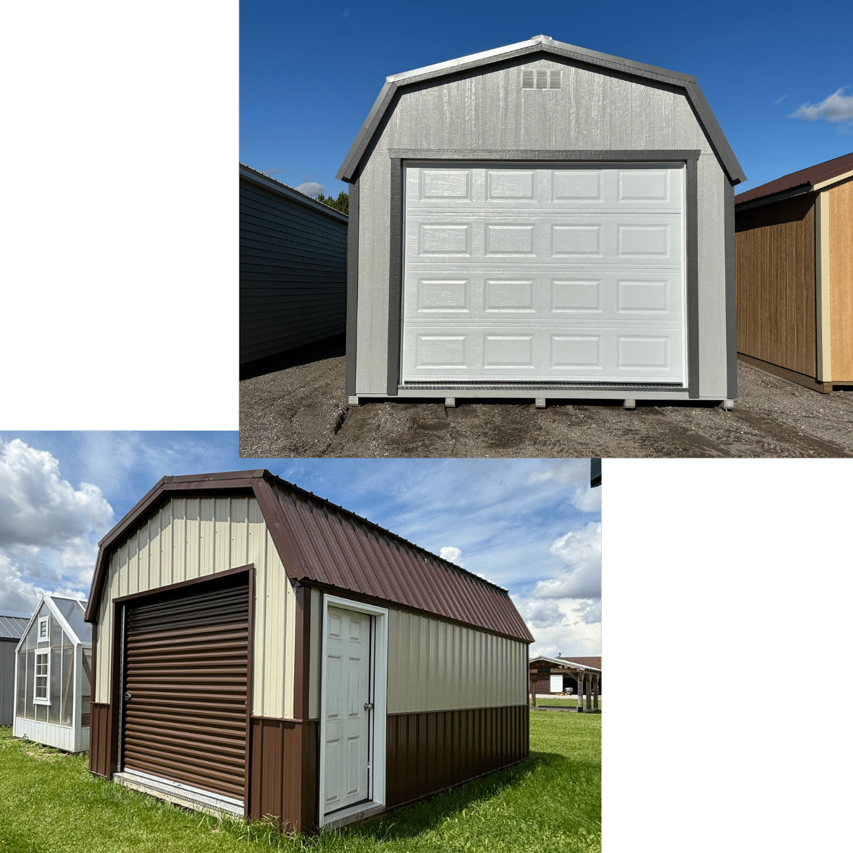
[[738,352],[815,376],[815,198],[735,212]]

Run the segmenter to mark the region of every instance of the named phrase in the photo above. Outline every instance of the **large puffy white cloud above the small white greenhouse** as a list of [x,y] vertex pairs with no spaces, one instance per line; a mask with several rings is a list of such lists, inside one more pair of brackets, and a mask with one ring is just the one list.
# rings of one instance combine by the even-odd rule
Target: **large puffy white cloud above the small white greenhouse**
[[20,438],[0,440],[0,611],[25,615],[44,589],[81,595],[96,538],[112,521],[113,508],[96,485],[75,489],[48,451]]

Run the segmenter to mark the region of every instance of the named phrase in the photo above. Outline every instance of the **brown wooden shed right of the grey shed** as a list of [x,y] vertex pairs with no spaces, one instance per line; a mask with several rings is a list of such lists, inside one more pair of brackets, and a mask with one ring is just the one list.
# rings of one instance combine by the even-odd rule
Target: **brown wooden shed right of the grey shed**
[[738,357],[853,385],[853,153],[734,197]]

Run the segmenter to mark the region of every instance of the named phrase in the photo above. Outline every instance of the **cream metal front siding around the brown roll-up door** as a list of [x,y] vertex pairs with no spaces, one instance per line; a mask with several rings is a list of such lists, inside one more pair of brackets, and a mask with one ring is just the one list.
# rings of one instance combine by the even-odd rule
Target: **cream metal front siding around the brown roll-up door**
[[97,620],[96,702],[109,702],[113,599],[255,566],[252,714],[293,717],[293,587],[254,497],[176,497],[110,556]]

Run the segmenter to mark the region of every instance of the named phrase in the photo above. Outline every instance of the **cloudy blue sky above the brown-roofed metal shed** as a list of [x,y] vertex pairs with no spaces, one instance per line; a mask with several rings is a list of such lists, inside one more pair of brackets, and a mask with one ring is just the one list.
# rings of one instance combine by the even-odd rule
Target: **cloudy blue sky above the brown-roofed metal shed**
[[0,431],[0,614],[87,595],[98,539],[164,474],[257,467],[509,589],[533,653],[601,654],[589,460],[247,460],[236,432]]

